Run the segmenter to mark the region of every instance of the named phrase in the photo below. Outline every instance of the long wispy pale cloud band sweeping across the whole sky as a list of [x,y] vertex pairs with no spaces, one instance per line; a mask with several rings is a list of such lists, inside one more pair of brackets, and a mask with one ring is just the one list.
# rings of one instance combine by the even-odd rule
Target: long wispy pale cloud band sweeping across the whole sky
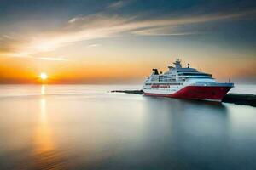
[[[38,32],[37,35],[3,35],[0,37],[0,56],[34,56],[38,53],[53,51],[72,42],[118,37],[124,34],[184,36],[200,33],[196,30],[184,30],[182,29],[184,26],[217,21],[251,20],[255,19],[255,14],[256,10],[251,10],[240,13],[202,14],[182,18],[166,17],[150,20],[142,19],[140,15],[124,17],[99,13],[79,16],[67,20],[64,26],[55,29],[55,31]],[[89,47],[96,46],[89,45]],[[51,58],[41,59],[50,60]]]

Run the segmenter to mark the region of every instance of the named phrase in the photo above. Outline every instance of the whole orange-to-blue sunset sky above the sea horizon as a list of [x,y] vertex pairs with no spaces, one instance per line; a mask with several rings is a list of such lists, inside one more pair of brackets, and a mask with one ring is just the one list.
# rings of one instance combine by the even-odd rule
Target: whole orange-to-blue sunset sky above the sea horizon
[[0,83],[141,83],[177,58],[256,83],[256,1],[0,1]]

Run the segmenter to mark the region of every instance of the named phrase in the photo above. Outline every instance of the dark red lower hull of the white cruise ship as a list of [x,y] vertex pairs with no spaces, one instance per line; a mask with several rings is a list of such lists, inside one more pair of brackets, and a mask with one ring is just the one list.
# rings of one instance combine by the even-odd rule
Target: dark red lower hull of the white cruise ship
[[145,95],[180,98],[180,99],[206,99],[221,101],[224,95],[227,94],[232,87],[218,87],[218,86],[187,86],[180,89],[174,94],[151,94]]

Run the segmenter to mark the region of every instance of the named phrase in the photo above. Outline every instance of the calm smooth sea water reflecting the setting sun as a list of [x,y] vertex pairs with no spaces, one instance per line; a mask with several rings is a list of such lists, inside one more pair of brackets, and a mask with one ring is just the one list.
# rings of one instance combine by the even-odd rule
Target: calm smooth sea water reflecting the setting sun
[[109,92],[139,88],[1,85],[0,169],[256,169],[255,107]]

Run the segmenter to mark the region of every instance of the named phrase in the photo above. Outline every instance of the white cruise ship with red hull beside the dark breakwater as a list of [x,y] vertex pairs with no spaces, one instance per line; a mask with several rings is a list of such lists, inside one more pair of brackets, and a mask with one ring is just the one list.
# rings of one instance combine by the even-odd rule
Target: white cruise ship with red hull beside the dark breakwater
[[180,59],[173,64],[165,73],[153,69],[143,85],[145,95],[221,101],[234,87],[234,83],[217,82],[211,74],[190,68],[189,64],[182,67]]

